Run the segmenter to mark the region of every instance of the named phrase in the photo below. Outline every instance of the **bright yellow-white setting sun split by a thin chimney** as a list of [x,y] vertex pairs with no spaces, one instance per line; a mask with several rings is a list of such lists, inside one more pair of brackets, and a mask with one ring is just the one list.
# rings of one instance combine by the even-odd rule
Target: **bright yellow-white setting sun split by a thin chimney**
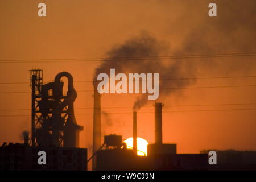
[[[125,140],[128,149],[133,148],[133,137]],[[137,155],[147,156],[147,140],[137,137]]]

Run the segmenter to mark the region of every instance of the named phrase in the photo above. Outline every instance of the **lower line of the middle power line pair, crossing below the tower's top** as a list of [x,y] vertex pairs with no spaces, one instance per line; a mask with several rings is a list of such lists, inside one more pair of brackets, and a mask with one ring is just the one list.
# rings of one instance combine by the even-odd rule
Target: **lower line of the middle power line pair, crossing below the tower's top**
[[[155,90],[171,90],[171,89],[211,89],[211,88],[237,88],[237,87],[251,87],[256,85],[234,85],[234,86],[196,86],[196,87],[173,87],[173,88],[162,88]],[[129,90],[129,89],[128,89]],[[135,89],[134,89],[135,90]],[[94,90],[78,90],[76,92],[93,92]],[[22,94],[31,92],[0,92],[0,94]],[[128,94],[128,93],[127,93]]]

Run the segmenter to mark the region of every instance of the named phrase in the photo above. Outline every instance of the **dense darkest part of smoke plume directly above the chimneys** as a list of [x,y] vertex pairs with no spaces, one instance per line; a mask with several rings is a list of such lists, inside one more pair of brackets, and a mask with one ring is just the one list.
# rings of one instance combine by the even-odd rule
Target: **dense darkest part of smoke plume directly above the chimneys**
[[[167,42],[161,42],[147,32],[142,32],[139,36],[130,38],[126,40],[125,43],[114,46],[108,52],[108,59],[110,60],[104,61],[100,67],[96,69],[94,83],[97,81],[98,74],[108,73],[110,68],[115,68],[116,73],[159,73],[159,88],[164,88],[161,78],[184,78],[192,76],[192,69],[179,60],[171,60],[168,64],[157,58],[154,60],[140,59],[138,61],[111,61],[111,59],[120,57],[128,59],[130,57],[158,57],[163,54],[167,55],[169,50],[170,48]],[[173,80],[168,82],[168,86],[180,87],[191,83],[191,80]],[[175,90],[161,89],[159,90],[159,96],[168,96],[172,92],[175,92]],[[142,106],[146,105],[149,102],[147,96],[148,94],[141,94],[138,96],[133,109],[139,110]]]

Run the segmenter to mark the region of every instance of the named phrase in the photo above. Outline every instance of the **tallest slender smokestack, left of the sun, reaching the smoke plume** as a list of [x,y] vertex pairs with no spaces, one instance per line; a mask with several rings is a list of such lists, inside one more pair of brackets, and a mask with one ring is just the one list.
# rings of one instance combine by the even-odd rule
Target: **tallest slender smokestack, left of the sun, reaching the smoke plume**
[[[95,154],[101,147],[101,94],[98,93],[97,86],[94,86],[93,103],[93,154]],[[92,161],[93,170],[96,169],[96,161],[97,155],[94,155]]]

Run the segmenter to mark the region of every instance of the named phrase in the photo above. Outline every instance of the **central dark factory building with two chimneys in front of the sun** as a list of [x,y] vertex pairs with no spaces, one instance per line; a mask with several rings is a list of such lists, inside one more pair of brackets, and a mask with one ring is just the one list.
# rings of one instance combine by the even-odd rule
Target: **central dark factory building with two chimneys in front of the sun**
[[[162,141],[162,107],[155,103],[155,143],[148,144],[147,156],[137,155],[137,142],[133,150],[122,143],[122,136],[108,135],[95,153],[96,170],[207,170],[208,154],[177,154],[177,145]],[[137,113],[133,113],[133,138],[137,138]],[[105,149],[104,149],[105,146]]]

